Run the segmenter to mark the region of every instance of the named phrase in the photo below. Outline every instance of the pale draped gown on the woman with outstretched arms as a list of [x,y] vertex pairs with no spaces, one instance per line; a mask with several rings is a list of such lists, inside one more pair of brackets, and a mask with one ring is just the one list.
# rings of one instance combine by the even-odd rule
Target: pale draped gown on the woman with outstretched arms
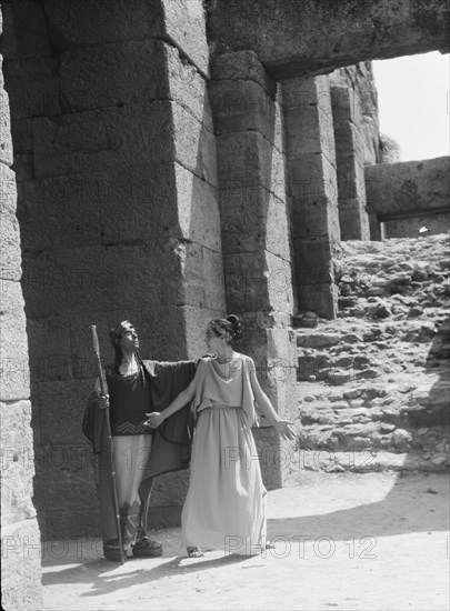
[[251,432],[251,363],[242,357],[223,365],[206,359],[199,365],[191,480],[181,518],[186,545],[261,552],[267,491]]

